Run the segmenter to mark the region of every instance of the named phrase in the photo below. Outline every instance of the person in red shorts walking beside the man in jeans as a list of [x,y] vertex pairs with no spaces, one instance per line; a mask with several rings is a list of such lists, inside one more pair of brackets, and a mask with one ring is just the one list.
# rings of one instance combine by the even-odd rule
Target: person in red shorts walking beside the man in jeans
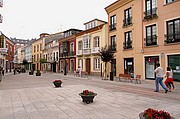
[[174,87],[174,82],[173,82],[173,72],[172,72],[170,67],[167,67],[166,70],[167,71],[166,71],[165,78],[167,78],[167,79],[165,81],[165,85],[169,88],[169,91],[171,91],[171,85],[172,85],[173,90],[175,88]]

